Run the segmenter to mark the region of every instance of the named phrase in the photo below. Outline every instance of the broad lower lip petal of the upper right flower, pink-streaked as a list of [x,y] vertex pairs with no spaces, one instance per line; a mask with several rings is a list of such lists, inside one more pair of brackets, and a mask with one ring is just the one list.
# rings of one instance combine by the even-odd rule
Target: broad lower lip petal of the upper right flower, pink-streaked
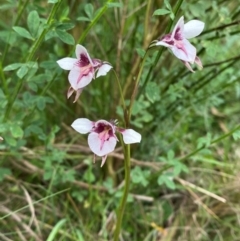
[[193,63],[196,58],[196,48],[187,39],[178,42],[171,50],[177,58],[183,61]]

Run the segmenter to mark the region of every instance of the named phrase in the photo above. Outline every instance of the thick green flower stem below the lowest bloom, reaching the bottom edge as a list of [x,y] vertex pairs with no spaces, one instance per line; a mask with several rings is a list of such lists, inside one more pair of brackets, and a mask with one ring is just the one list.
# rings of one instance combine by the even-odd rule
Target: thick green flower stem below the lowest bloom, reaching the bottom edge
[[119,206],[118,212],[117,212],[117,224],[116,224],[116,229],[115,229],[115,232],[114,232],[114,241],[119,240],[119,234],[120,234],[120,231],[121,231],[124,209],[125,209],[125,206],[126,206],[128,192],[129,192],[129,186],[130,186],[130,145],[125,145],[124,167],[125,167],[125,185],[124,185],[124,191],[123,191],[121,203],[120,203],[120,206]]

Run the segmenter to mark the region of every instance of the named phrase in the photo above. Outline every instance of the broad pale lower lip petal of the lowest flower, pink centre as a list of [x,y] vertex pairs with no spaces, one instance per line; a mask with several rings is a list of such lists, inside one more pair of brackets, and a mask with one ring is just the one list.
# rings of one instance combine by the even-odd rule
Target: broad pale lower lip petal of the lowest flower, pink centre
[[108,140],[104,141],[102,145],[102,141],[99,138],[98,133],[92,132],[88,135],[88,145],[92,152],[98,156],[105,156],[112,152],[116,144],[117,140],[115,137],[110,137]]

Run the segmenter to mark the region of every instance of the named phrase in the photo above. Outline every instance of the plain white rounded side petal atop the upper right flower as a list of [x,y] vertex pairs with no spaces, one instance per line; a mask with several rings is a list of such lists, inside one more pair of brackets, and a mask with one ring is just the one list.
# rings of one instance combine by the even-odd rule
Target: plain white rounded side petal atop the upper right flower
[[199,20],[191,20],[184,24],[183,36],[187,39],[198,36],[204,29],[205,23]]

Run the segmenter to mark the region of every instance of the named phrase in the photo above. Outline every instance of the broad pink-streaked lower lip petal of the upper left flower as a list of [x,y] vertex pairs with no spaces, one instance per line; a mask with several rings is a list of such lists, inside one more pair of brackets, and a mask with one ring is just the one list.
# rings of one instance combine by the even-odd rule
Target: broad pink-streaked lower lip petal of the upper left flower
[[82,71],[81,68],[74,66],[69,72],[68,80],[73,89],[82,89],[88,85],[93,79],[93,68],[88,68]]

